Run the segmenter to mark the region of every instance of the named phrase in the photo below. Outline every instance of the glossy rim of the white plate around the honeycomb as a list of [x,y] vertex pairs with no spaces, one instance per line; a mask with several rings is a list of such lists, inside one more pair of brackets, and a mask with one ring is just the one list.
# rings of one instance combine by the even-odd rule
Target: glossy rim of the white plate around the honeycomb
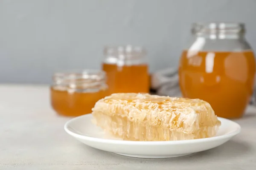
[[89,140],[93,142],[100,142],[100,143],[112,143],[112,144],[124,144],[124,145],[127,145],[127,144],[129,145],[166,145],[166,144],[172,145],[172,144],[189,144],[189,143],[191,144],[191,143],[201,143],[201,142],[212,142],[216,140],[231,138],[241,132],[241,126],[237,122],[234,122],[230,119],[225,119],[222,117],[218,117],[218,119],[219,120],[222,119],[235,124],[237,126],[237,129],[233,132],[230,132],[221,136],[213,136],[213,137],[201,138],[201,139],[178,140],[178,141],[125,141],[125,140],[116,140],[116,139],[102,139],[102,138],[80,135],[68,129],[68,125],[71,122],[76,121],[76,119],[81,119],[81,117],[86,117],[90,115],[92,115],[92,113],[77,116],[75,118],[68,120],[64,125],[64,130],[71,136],[74,136],[79,139]]

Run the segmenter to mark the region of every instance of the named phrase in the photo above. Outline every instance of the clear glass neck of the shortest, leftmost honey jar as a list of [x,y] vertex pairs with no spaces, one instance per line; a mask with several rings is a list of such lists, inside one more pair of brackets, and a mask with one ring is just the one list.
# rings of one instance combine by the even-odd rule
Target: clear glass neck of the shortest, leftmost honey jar
[[104,71],[62,71],[53,75],[52,88],[69,92],[96,92],[107,88],[105,81]]

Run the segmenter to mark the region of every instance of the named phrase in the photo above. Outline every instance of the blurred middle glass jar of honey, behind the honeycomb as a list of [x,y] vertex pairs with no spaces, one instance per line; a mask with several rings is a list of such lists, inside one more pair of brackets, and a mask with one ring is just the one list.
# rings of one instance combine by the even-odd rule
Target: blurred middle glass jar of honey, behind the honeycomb
[[105,47],[102,70],[112,93],[148,93],[149,75],[145,49],[131,45]]

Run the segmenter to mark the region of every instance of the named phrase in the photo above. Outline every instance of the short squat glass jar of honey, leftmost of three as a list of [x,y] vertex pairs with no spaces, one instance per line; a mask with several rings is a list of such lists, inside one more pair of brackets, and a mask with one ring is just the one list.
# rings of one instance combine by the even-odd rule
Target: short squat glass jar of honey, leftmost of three
[[95,103],[109,95],[104,71],[57,72],[52,80],[51,104],[60,115],[80,116],[91,113]]

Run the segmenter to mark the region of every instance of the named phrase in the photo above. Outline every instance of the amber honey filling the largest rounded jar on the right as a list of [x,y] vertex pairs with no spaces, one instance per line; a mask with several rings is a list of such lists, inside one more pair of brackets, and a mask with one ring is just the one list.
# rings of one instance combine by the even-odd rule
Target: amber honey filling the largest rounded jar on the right
[[253,51],[183,51],[179,67],[184,97],[203,99],[215,114],[239,118],[253,93]]

